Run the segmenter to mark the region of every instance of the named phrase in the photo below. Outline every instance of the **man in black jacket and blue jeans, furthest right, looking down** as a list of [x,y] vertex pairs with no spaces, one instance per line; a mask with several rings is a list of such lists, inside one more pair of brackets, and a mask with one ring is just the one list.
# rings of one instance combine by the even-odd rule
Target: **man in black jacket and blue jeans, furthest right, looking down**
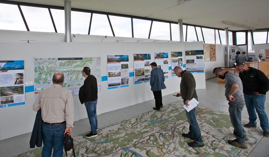
[[263,135],[268,137],[269,124],[268,117],[264,111],[264,103],[266,92],[269,90],[269,79],[261,70],[247,67],[242,63],[238,63],[235,68],[240,72],[239,77],[243,83],[244,98],[250,120],[244,127],[257,127],[256,109]]

